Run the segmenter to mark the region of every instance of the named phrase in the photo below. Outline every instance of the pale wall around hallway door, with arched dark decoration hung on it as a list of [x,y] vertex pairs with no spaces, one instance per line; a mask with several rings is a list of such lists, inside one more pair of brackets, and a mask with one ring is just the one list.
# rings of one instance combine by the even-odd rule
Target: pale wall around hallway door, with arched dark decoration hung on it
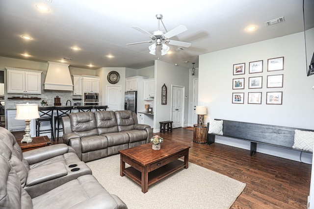
[[[170,120],[171,118],[171,85],[185,87],[185,95],[189,93],[188,69],[175,66],[170,63],[155,60],[155,113],[154,113],[154,133],[159,132],[159,122]],[[167,104],[161,105],[161,87],[167,86]],[[185,99],[184,123],[188,121],[188,98]]]

